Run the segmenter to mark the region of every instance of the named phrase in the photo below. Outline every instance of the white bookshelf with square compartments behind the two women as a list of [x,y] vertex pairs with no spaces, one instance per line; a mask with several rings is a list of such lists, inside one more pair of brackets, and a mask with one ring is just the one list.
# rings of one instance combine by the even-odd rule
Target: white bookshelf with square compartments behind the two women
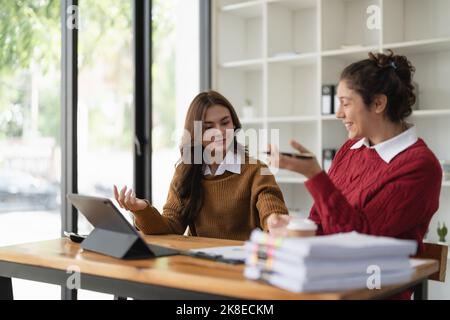
[[[322,85],[336,85],[340,71],[369,51],[393,49],[417,69],[419,108],[410,121],[440,160],[450,160],[450,1],[213,3],[213,88],[230,98],[241,117],[245,100],[253,102],[244,129],[280,129],[280,149],[290,150],[288,140],[296,138],[321,162],[323,149],[338,149],[347,139],[341,121],[321,114]],[[369,6],[380,9],[379,29],[367,27]],[[312,199],[305,179],[284,171],[276,179],[289,209],[306,216]],[[431,241],[437,241],[438,221],[450,226],[450,181],[442,183]]]

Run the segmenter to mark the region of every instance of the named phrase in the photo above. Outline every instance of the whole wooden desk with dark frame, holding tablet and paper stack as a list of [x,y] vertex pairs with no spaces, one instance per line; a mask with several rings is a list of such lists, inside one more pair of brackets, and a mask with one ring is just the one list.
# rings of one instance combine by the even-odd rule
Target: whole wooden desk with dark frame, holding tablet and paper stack
[[[146,236],[146,241],[177,249],[239,245],[239,241]],[[417,262],[417,260],[416,260]],[[243,265],[229,265],[187,256],[124,261],[89,251],[68,239],[0,248],[0,299],[12,299],[11,278],[65,286],[67,270],[81,270],[81,288],[138,299],[382,299],[411,288],[438,269],[435,260],[421,260],[408,283],[381,290],[292,293],[247,280]]]

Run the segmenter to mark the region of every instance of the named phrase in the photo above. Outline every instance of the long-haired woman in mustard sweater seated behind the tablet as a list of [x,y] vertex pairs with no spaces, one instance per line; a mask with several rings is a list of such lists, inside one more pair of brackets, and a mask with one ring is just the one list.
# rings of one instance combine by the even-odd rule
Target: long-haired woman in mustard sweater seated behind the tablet
[[225,97],[215,91],[197,95],[187,112],[181,159],[162,215],[132,190],[114,186],[116,200],[133,213],[136,227],[145,234],[184,234],[189,227],[193,236],[247,240],[253,229],[269,231],[278,215],[288,214],[267,166],[237,143],[239,129]]

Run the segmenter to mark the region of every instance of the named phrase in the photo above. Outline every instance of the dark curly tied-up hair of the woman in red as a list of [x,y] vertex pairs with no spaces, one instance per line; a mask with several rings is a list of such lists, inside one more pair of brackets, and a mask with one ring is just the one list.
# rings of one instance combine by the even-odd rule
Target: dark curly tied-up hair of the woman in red
[[387,97],[386,115],[395,123],[404,121],[411,115],[416,102],[412,78],[415,67],[402,55],[369,53],[369,59],[347,66],[340,80],[345,80],[350,89],[363,98],[370,106],[378,94]]

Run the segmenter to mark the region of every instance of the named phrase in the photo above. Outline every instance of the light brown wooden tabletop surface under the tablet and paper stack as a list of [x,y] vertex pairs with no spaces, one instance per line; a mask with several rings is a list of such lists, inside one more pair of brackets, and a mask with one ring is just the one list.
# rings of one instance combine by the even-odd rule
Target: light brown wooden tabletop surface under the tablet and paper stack
[[[240,241],[186,237],[178,235],[145,236],[152,244],[175,249],[194,249],[240,245]],[[293,293],[243,276],[243,265],[230,265],[187,256],[146,260],[119,260],[85,251],[70,240],[56,239],[0,248],[0,261],[82,273],[164,287],[199,291],[239,299],[377,299],[389,296],[438,270],[435,260],[415,260],[415,272],[408,284],[386,286],[380,290],[350,290],[329,293]],[[0,270],[1,275],[1,270]]]

